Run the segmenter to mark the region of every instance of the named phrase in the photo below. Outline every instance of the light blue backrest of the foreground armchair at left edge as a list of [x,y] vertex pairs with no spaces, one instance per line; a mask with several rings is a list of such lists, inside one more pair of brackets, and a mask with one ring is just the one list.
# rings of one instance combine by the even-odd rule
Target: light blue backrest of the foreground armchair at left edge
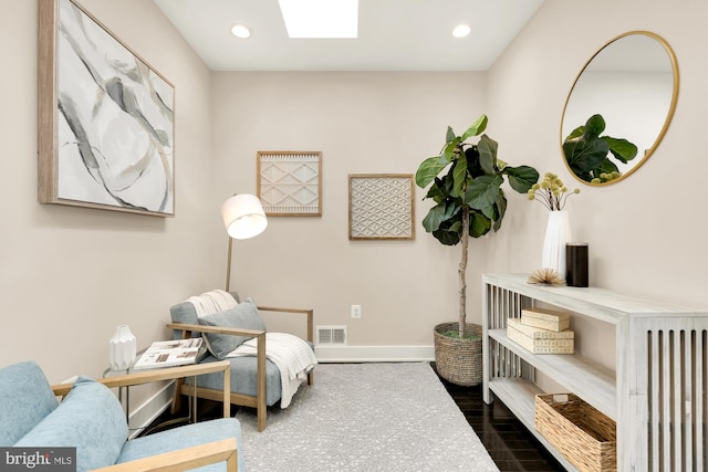
[[56,405],[52,387],[35,361],[0,369],[0,447],[13,445]]

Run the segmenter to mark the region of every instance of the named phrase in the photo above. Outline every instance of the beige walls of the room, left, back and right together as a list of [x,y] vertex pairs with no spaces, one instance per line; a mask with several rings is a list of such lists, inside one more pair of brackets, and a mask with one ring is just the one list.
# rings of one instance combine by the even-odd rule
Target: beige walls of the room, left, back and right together
[[[312,306],[317,324],[348,325],[353,346],[429,346],[431,326],[456,316],[459,249],[421,229],[420,190],[415,241],[348,241],[347,175],[414,172],[447,125],[462,130],[483,112],[501,159],[571,182],[559,150],[568,90],[604,41],[635,29],[662,34],[678,55],[676,116],[632,178],[583,187],[569,204],[573,229],[591,244],[594,284],[707,305],[702,0],[546,0],[488,74],[209,73],[152,2],[82,3],[176,85],[177,217],[37,202],[37,1],[0,0],[2,365],[37,359],[52,381],[100,375],[116,324],[140,345],[166,336],[169,304],[221,286],[218,206],[254,192],[256,151],[278,149],[323,151],[323,216],[271,218],[262,235],[237,242],[233,287],[259,303]],[[540,260],[545,211],[509,198],[501,233],[471,244],[471,321],[481,273],[529,272]]]

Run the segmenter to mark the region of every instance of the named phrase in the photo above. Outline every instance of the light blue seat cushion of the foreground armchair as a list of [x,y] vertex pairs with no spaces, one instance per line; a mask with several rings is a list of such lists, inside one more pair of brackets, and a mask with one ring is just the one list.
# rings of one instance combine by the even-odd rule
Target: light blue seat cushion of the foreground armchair
[[[229,438],[236,438],[239,448],[238,469],[239,471],[243,471],[246,469],[243,468],[241,426],[236,418],[218,418],[133,439],[123,447],[117,463]],[[210,464],[195,470],[200,472],[226,471],[226,462]]]

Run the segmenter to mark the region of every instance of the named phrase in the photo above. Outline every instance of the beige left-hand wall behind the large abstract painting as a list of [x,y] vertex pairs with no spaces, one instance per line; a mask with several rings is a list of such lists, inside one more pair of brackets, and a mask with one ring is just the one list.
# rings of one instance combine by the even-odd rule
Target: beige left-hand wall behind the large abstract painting
[[100,375],[117,324],[164,338],[169,304],[220,280],[209,71],[153,2],[82,4],[176,86],[178,217],[38,203],[38,1],[0,1],[0,365],[35,359],[53,382]]

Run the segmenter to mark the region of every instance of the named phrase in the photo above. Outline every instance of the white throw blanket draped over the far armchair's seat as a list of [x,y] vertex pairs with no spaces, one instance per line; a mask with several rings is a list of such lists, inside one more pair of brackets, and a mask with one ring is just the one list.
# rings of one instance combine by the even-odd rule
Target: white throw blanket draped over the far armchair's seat
[[[256,355],[257,343],[256,338],[252,338],[229,353],[227,357]],[[317,365],[317,358],[306,342],[288,333],[266,333],[266,357],[280,370],[280,382],[283,389],[280,408],[288,408],[300,384]]]

